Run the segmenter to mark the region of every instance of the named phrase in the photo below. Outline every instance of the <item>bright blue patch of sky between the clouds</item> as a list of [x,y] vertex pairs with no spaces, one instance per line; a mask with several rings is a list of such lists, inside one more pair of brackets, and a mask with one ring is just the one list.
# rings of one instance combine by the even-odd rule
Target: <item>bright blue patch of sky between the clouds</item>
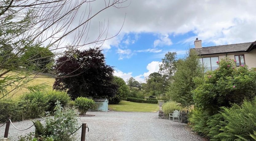
[[[104,51],[108,65],[114,66],[116,71],[130,73],[138,81],[144,82],[144,73],[149,72],[147,65],[152,62],[161,62],[161,59],[168,52],[176,52],[178,58],[184,57],[188,48],[193,48],[193,42],[186,42],[189,37],[196,36],[193,32],[180,35],[166,35],[159,37],[154,33],[126,34],[118,48],[111,48]],[[159,39],[160,38],[160,39]],[[161,39],[162,38],[162,39]],[[160,40],[160,42],[157,42]],[[166,40],[166,41],[162,41]],[[203,46],[211,46],[213,43],[206,43]],[[154,64],[153,71],[157,71],[158,64]],[[147,73],[147,75],[150,73]],[[128,77],[123,77],[127,79]]]

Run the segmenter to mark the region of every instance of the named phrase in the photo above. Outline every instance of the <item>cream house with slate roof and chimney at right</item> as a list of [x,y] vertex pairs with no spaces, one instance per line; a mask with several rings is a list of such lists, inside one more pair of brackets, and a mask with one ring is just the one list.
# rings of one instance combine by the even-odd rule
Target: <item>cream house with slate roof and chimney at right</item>
[[215,70],[219,66],[217,61],[225,57],[236,60],[236,66],[247,65],[249,68],[256,67],[256,41],[240,44],[227,44],[211,47],[202,47],[202,40],[195,40],[196,53],[201,57],[201,63],[208,70]]

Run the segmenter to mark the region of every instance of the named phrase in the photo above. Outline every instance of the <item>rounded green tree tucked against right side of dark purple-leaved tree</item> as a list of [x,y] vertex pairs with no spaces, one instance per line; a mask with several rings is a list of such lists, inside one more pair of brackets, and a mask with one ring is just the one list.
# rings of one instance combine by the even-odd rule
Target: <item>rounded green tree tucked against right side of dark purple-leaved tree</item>
[[118,86],[118,90],[116,95],[109,99],[109,103],[118,104],[121,100],[128,96],[130,90],[125,81],[120,77],[114,76],[113,82]]

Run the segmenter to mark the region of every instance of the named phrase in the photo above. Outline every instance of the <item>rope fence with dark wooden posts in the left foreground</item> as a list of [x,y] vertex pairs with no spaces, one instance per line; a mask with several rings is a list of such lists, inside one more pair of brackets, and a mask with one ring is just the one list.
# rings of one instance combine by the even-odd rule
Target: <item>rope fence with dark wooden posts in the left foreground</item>
[[[10,128],[10,124],[17,130],[19,131],[25,131],[25,130],[28,130],[29,128],[33,127],[34,124],[32,126],[30,126],[29,128],[26,128],[26,129],[19,129],[17,127],[14,126],[14,124],[12,123],[11,121],[11,118],[7,118],[8,120],[6,120],[5,123],[3,123],[3,125],[0,126],[0,128],[2,126],[4,126],[6,124],[6,128],[5,128],[5,133],[4,133],[4,138],[8,138],[8,134],[9,134],[9,128]],[[86,123],[83,123],[79,128],[76,129],[76,131],[78,131],[80,128],[82,127],[82,133],[81,133],[81,141],[85,141],[85,133],[86,133],[86,128],[88,128],[87,124]],[[74,134],[76,131],[74,131],[72,134]],[[88,131],[89,131],[89,128],[88,128]],[[70,135],[72,135],[70,134]]]

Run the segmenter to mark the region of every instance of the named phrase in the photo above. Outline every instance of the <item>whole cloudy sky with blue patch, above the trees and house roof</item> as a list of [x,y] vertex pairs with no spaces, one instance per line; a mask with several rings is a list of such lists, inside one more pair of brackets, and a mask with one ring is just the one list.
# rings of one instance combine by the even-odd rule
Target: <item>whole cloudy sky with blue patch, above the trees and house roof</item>
[[[92,13],[103,5],[92,2]],[[165,53],[176,52],[181,58],[194,48],[196,38],[203,47],[256,40],[255,0],[128,0],[123,5],[95,16],[90,35],[96,37],[106,21],[108,36],[121,29],[101,48],[107,64],[114,66],[114,75],[125,81],[134,77],[145,82],[158,71]]]

